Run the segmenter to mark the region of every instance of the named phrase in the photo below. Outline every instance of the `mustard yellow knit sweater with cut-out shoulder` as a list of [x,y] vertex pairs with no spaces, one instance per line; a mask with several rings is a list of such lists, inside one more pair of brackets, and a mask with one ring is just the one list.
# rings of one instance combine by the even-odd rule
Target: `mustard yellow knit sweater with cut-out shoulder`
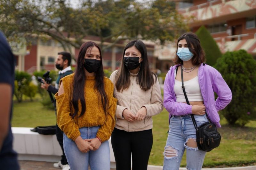
[[[57,105],[57,124],[68,138],[72,140],[75,140],[80,136],[81,133],[79,128],[100,126],[97,137],[104,142],[110,138],[111,132],[115,127],[117,99],[113,97],[114,86],[107,77],[104,77],[104,87],[108,97],[108,110],[106,115],[101,104],[101,99],[98,98],[97,89],[94,88],[95,77],[86,76],[84,85],[86,110],[81,117],[78,117],[82,110],[81,103],[79,101],[78,114],[72,118],[70,115],[73,113],[71,113],[69,103],[72,99],[74,75],[75,73],[62,78],[60,80],[60,84],[63,84],[64,93],[60,96],[58,93],[55,94]],[[74,110],[73,106],[72,110]]]

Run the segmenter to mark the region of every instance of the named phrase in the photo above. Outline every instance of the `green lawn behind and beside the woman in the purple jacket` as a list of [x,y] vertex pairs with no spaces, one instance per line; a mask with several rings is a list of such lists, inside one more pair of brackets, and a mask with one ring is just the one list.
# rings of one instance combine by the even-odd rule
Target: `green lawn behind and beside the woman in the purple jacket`
[[[163,152],[168,131],[168,112],[164,109],[153,117],[153,148],[149,158],[150,165],[163,165]],[[256,121],[251,121],[244,128],[227,125],[221,118],[222,127],[220,146],[206,153],[203,167],[226,167],[256,165]],[[186,152],[181,167],[186,166]]]

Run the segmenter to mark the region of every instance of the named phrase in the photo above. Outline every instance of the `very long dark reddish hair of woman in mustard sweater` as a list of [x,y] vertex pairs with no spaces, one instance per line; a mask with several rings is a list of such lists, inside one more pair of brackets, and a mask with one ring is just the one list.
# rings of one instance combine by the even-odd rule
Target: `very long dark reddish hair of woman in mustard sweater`
[[[81,102],[82,110],[79,115],[82,116],[86,110],[86,103],[84,99],[84,84],[85,84],[85,70],[84,70],[84,56],[87,50],[92,50],[92,47],[95,46],[99,49],[100,47],[92,42],[88,41],[84,43],[79,50],[78,58],[77,58],[77,67],[76,67],[76,72],[75,72],[75,77],[74,77],[74,83],[73,83],[73,95],[72,95],[72,100],[70,103],[74,107],[74,112],[72,114],[72,117],[74,118],[78,112],[78,101]],[[104,89],[104,72],[103,72],[103,67],[102,67],[102,56],[101,56],[101,51],[100,51],[100,68],[95,72],[95,85],[94,87],[97,89],[99,92],[101,98],[101,103],[104,109],[105,114],[107,114],[107,108],[108,108],[108,98]],[[71,107],[72,108],[72,107]]]

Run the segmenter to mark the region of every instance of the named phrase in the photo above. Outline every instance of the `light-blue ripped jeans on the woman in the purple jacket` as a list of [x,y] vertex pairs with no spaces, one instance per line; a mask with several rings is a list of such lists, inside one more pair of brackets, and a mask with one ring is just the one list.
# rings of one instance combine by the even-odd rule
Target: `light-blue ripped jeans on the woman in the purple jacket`
[[[194,115],[197,126],[208,122],[206,115]],[[202,169],[205,151],[198,150],[197,147],[186,145],[188,140],[196,141],[196,129],[190,115],[173,116],[170,118],[169,133],[164,148],[164,168],[163,170],[179,170],[180,161],[187,152],[187,169]]]

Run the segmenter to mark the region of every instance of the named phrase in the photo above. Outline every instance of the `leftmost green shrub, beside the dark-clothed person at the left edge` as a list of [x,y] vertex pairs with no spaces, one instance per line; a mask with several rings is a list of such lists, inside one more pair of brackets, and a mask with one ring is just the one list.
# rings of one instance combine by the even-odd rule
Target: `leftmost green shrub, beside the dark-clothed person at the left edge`
[[22,102],[22,96],[29,86],[31,75],[24,71],[15,71],[14,96]]

